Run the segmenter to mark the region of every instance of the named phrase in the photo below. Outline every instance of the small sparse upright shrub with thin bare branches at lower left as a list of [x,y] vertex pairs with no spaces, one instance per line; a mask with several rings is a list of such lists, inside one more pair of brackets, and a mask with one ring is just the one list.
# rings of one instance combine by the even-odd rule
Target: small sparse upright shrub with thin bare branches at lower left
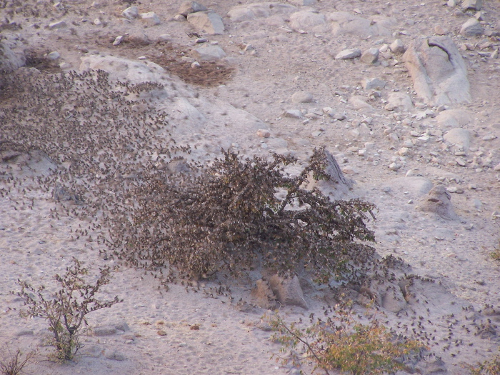
[[48,291],[43,285],[34,288],[21,280],[21,291],[15,293],[28,306],[21,316],[40,317],[49,321],[49,331],[54,335],[51,344],[56,347],[55,358],[61,361],[73,359],[80,349],[79,336],[82,325],[87,325],[87,314],[123,301],[118,296],[112,301],[101,302],[96,299],[95,295],[101,286],[109,284],[111,269],[108,266],[100,270],[95,283],[88,284],[84,276],[89,274],[89,270],[82,267],[77,259],[74,258],[73,262],[74,265],[66,269],[64,276],[54,276],[61,286],[56,293]]

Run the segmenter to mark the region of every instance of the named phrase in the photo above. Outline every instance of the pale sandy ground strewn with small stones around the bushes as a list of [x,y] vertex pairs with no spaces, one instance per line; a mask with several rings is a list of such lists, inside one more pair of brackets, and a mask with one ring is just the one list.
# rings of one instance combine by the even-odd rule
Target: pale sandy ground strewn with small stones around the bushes
[[[172,138],[181,144],[199,146],[193,154],[195,159],[211,160],[220,155],[223,146],[249,156],[292,152],[303,164],[314,147],[325,146],[342,167],[350,167],[346,169],[349,178],[356,181],[346,197],[359,197],[377,206],[376,221],[369,223],[376,234],[376,251],[381,256],[401,256],[411,267],[406,269],[409,274],[431,280],[416,280],[408,304],[398,314],[382,308],[377,312],[386,326],[401,333],[409,332],[409,336],[429,345],[430,356],[422,361],[419,371],[469,374],[462,364],[484,361],[497,351],[500,264],[489,257],[489,252],[500,237],[499,221],[492,216],[500,211],[500,171],[494,169],[500,165],[500,60],[481,56],[479,52],[494,51],[500,42],[494,36],[467,39],[458,36],[461,24],[475,12],[454,16],[453,8],[443,1],[392,4],[324,0],[313,6],[321,14],[347,11],[366,17],[380,14],[391,18],[392,34],[366,38],[334,36],[324,25],[304,32],[294,31],[289,26],[289,14],[231,21],[226,14],[235,4],[219,1],[204,5],[222,16],[226,31],[209,35],[188,22],[174,21],[180,5],[176,1],[133,4],[141,13],[154,11],[161,20],[156,26],[147,26],[137,19],[124,20],[121,11],[128,4],[120,1],[17,3],[7,0],[0,3],[0,18],[6,19],[1,34],[16,43],[14,51],[26,51],[29,64],[43,74],[80,71],[82,59],[88,56],[119,56],[129,59],[131,66],[152,61],[164,67],[165,70],[159,66],[151,68],[148,74],[161,84],[170,85],[169,103],[153,98],[149,106],[172,109],[169,121],[179,124],[179,129],[172,131]],[[483,6],[486,29],[499,31],[498,1],[484,1]],[[296,11],[303,9],[307,8],[297,6]],[[48,27],[60,20],[69,26],[59,30]],[[449,30],[457,45],[470,44],[462,54],[469,70],[472,101],[456,104],[452,109],[462,109],[470,116],[464,127],[474,136],[466,159],[489,158],[489,167],[456,165],[455,151],[442,151],[439,136],[401,159],[396,152],[404,139],[411,139],[410,131],[449,130],[439,129],[434,117],[416,119],[419,112],[433,108],[421,104],[416,96],[411,77],[398,61],[401,55],[381,57],[387,64],[376,65],[363,64],[357,59],[334,59],[342,49],[357,47],[364,51],[371,46],[390,44],[396,38],[408,45],[419,36],[434,34],[438,24]],[[111,44],[110,40],[126,33],[135,42]],[[209,42],[216,41],[226,57],[216,64],[204,63],[198,71],[186,70],[181,57],[190,56],[189,51],[197,46],[196,35],[192,33],[199,33]],[[154,43],[165,34],[169,39],[166,44]],[[479,45],[487,41],[491,45],[481,49]],[[254,49],[244,51],[247,44]],[[59,52],[59,59],[41,64],[39,59],[51,51]],[[146,59],[139,60],[139,56]],[[111,76],[116,73],[112,68],[109,72]],[[116,73],[118,78],[119,74]],[[384,79],[386,87],[380,90],[379,98],[370,99],[373,111],[352,109],[348,99],[356,94],[367,96],[361,82],[375,77]],[[313,101],[293,103],[291,95],[296,91],[309,91]],[[416,108],[397,115],[386,111],[384,100],[393,91],[410,94]],[[186,119],[180,110],[179,114],[173,110],[181,108],[179,103],[184,99],[196,107],[203,121],[201,117],[196,120],[196,116]],[[0,111],[10,106],[12,100],[8,95],[2,96]],[[331,119],[324,114],[324,107],[333,108],[346,119]],[[283,116],[283,111],[289,109],[305,109],[314,116],[309,121]],[[405,119],[409,122],[405,123]],[[0,117],[0,131],[11,131],[4,120]],[[31,120],[18,121],[21,128]],[[389,128],[399,131],[399,142],[384,132]],[[256,129],[269,129],[271,136],[260,138]],[[485,138],[491,134],[496,138]],[[359,156],[361,149],[367,149],[368,156]],[[72,257],[84,261],[94,272],[104,264],[117,263],[116,259],[100,256],[100,251],[106,250],[104,244],[88,240],[89,235],[95,239],[101,234],[99,220],[104,216],[78,214],[81,207],[54,200],[54,186],[41,182],[53,174],[56,161],[49,161],[36,151],[31,156],[21,154],[12,159],[2,152],[0,343],[2,348],[9,346],[11,350],[38,348],[34,361],[26,366],[26,373],[296,374],[299,371],[291,364],[271,359],[279,354],[280,346],[269,339],[271,332],[261,320],[269,311],[256,306],[251,297],[256,278],[234,280],[221,275],[219,279],[199,281],[194,286],[169,284],[166,291],[151,274],[126,266],[113,272],[113,279],[102,294],[105,299],[118,295],[124,301],[89,315],[94,333],[89,331],[82,337],[85,346],[81,356],[66,364],[47,361],[45,354],[51,348],[43,345],[49,334],[46,322],[19,317],[22,301],[9,293],[19,290],[16,280],[49,284],[54,274],[64,272]],[[388,167],[394,161],[401,163],[397,171]],[[424,194],[420,182],[404,180],[409,171],[434,185],[445,184],[458,219],[445,220],[418,211],[416,206]],[[89,233],[84,236],[82,230]],[[302,319],[305,327],[310,314],[321,316],[324,306],[333,299],[324,286],[304,289],[304,294],[309,309],[284,306],[280,314],[289,322]],[[356,311],[361,314],[365,309],[359,304]],[[114,327],[114,331],[99,336],[99,327]],[[414,334],[412,327],[418,327]],[[442,359],[443,364],[436,358]],[[310,373],[308,360],[304,360],[301,370]]]

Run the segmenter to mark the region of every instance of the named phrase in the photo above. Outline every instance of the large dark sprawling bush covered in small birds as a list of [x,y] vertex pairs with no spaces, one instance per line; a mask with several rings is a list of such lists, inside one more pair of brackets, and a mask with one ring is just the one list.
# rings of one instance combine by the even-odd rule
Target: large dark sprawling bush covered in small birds
[[365,224],[374,205],[331,201],[304,188],[309,176],[329,179],[323,149],[299,176],[286,176],[284,167],[295,162],[278,154],[272,161],[241,160],[224,151],[224,159],[197,173],[149,179],[132,194],[139,201],[133,224],[124,220],[121,233],[114,232],[123,241],[116,248],[124,245],[115,254],[146,269],[175,266],[191,277],[220,269],[237,275],[255,261],[282,273],[306,267],[323,282],[354,274],[374,253],[363,243],[374,241]]

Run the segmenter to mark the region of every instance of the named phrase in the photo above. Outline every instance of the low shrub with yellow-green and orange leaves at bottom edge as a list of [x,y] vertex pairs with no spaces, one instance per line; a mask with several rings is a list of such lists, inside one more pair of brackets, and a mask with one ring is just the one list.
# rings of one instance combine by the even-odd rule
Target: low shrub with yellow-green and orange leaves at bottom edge
[[[341,371],[342,374],[391,374],[404,369],[404,359],[420,356],[424,345],[419,341],[396,336],[379,321],[361,324],[350,314],[340,314],[326,322],[318,319],[307,329],[288,326],[276,314],[270,319],[275,331],[272,339],[292,349],[300,344],[315,362],[314,371]],[[288,361],[284,359],[284,361]],[[293,360],[298,364],[297,360]]]

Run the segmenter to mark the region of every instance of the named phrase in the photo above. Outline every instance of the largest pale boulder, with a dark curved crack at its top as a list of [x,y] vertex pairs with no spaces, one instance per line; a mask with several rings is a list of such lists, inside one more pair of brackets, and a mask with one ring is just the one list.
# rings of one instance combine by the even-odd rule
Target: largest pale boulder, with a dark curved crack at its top
[[467,68],[449,36],[413,41],[403,56],[414,89],[426,104],[459,104],[471,101]]

